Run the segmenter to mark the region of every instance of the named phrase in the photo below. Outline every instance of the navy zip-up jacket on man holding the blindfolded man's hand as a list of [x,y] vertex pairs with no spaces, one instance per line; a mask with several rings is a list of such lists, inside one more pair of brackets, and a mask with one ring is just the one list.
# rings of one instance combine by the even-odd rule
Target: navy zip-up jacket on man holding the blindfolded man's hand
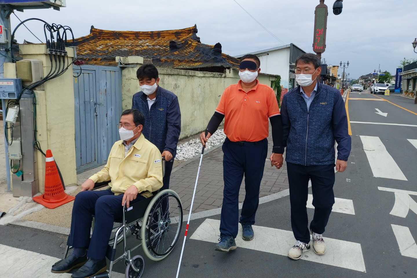
[[339,90],[320,84],[307,111],[300,87],[284,95],[281,105],[285,161],[299,165],[334,163],[334,140],[337,159],[349,158],[351,138],[347,115]]

